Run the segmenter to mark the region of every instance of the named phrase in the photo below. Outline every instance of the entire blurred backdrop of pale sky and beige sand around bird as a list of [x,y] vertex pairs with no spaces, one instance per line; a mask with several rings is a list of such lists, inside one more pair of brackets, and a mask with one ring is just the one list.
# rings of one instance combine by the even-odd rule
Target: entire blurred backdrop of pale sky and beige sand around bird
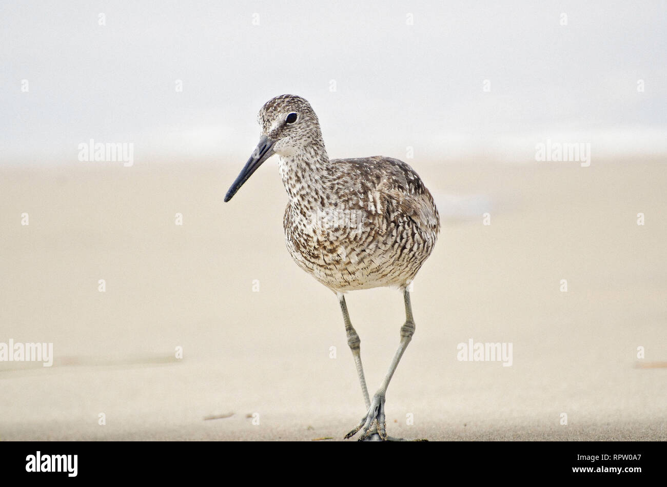
[[[276,158],[222,202],[282,93],[310,101],[330,157],[412,165],[443,219],[390,434],[667,439],[666,14],[0,4],[0,342],[54,350],[51,368],[0,361],[0,440],[340,440],[356,424],[338,303],[287,254]],[[79,160],[90,139],[132,144],[133,164]],[[590,144],[590,166],[536,160],[548,141]],[[348,306],[372,392],[402,298]],[[513,365],[457,360],[470,338],[512,342]]]

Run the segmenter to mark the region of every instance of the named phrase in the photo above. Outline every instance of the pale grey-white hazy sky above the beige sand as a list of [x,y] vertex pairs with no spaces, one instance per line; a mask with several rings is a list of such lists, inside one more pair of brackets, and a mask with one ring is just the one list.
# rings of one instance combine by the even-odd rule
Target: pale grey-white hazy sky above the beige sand
[[524,161],[547,137],[665,154],[666,19],[664,1],[6,1],[1,161],[77,163],[95,139],[241,165],[282,93],[331,157]]

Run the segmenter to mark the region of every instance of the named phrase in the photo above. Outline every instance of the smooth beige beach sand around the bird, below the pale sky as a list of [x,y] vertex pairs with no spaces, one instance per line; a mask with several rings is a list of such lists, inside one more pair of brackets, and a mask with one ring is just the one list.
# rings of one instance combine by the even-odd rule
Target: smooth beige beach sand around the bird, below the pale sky
[[[409,162],[444,218],[390,434],[666,440],[664,159]],[[0,342],[54,354],[0,362],[0,440],[342,440],[360,420],[336,297],[285,249],[275,161],[222,201],[242,163],[0,169]],[[372,393],[402,298],[347,300]],[[470,339],[511,343],[512,366],[458,360]]]

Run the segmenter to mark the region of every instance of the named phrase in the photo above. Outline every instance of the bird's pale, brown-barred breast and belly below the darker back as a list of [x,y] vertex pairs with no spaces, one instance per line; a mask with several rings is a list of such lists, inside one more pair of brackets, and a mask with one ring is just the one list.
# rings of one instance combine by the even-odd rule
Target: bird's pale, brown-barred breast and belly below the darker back
[[299,267],[336,292],[406,286],[436,235],[394,217],[361,206],[311,209],[291,202],[283,219],[287,250]]

